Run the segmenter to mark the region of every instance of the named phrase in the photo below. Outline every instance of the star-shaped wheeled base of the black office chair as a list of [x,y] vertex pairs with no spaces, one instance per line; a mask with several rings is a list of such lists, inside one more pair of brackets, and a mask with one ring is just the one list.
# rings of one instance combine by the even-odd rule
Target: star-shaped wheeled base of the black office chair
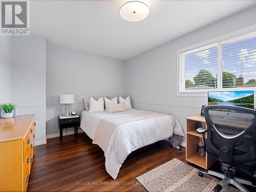
[[198,174],[201,177],[203,176],[203,174],[208,174],[208,175],[216,176],[216,177],[219,177],[222,179],[219,182],[219,184],[216,185],[216,187],[214,188],[215,192],[219,192],[224,186],[226,186],[228,184],[232,184],[232,185],[236,186],[239,190],[241,190],[243,192],[249,192],[249,190],[247,190],[241,184],[256,187],[255,185],[252,185],[252,183],[246,179],[242,179],[242,178],[238,178],[238,177],[234,177],[233,179],[231,179],[231,178],[228,178],[225,174],[218,173],[213,170],[200,169]]

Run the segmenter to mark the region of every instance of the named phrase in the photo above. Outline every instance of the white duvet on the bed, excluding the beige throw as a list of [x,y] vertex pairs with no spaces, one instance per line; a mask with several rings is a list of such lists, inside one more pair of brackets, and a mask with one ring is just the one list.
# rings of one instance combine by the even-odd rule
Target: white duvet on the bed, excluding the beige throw
[[[106,112],[83,111],[80,127],[94,143],[95,133],[99,133],[96,132],[96,129],[102,119],[108,120],[110,118],[113,119],[113,117],[124,118],[127,115],[132,116],[143,112],[145,111],[134,109],[111,114]],[[102,130],[104,130],[104,127],[101,127]],[[184,137],[182,127],[178,120],[173,115],[168,114],[116,126],[110,139],[108,139],[108,147],[102,147],[105,155],[106,171],[112,178],[116,179],[123,161],[131,152],[157,141],[168,139],[173,134]]]

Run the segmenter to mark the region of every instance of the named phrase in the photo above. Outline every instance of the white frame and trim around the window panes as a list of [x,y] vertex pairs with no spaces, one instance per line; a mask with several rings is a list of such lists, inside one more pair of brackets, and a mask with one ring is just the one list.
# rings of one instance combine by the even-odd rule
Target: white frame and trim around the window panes
[[[208,91],[241,91],[252,90],[256,91],[256,87],[247,88],[222,88],[222,46],[231,42],[236,42],[250,37],[256,36],[256,25],[225,34],[216,38],[212,38],[199,44],[192,45],[183,49],[177,50],[177,96],[205,96]],[[187,54],[196,53],[206,49],[217,47],[218,63],[217,63],[217,89],[202,89],[202,90],[185,90],[185,66],[184,58]]]

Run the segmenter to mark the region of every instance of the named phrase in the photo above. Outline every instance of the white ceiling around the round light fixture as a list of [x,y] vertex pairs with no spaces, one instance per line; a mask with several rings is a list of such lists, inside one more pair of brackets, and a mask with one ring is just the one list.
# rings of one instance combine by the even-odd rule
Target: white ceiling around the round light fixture
[[256,5],[254,0],[150,0],[138,23],[119,15],[123,0],[30,1],[30,32],[52,44],[129,59]]

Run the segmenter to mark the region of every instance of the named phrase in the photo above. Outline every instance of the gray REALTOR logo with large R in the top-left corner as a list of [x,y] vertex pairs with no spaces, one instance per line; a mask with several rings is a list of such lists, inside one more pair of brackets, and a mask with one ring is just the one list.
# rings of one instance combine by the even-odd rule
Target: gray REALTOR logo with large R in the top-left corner
[[1,1],[1,35],[29,35],[29,1]]

